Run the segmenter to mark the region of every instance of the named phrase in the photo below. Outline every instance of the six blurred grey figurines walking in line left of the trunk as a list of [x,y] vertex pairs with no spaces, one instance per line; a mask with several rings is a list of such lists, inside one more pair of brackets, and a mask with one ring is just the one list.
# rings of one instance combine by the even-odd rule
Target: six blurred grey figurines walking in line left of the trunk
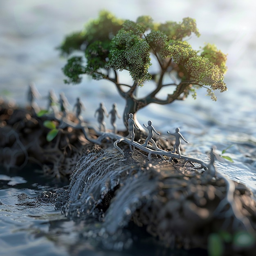
[[[38,109],[38,106],[36,105],[34,100],[38,99],[38,97],[40,97],[40,94],[36,90],[33,83],[29,85],[27,97],[28,97],[29,106],[31,106],[34,109]],[[62,116],[66,117],[70,103],[67,101],[67,98],[65,97],[65,94],[63,92],[60,93],[60,96],[58,99],[54,91],[50,90],[47,99],[48,99],[48,105],[47,105],[48,112],[52,112],[52,111],[54,113],[59,112],[58,110],[58,106],[59,106],[60,111],[62,112]],[[76,103],[74,104],[73,112],[75,112],[75,115],[80,122],[83,121],[83,118],[81,117],[82,110],[85,110],[85,106],[83,105],[80,98],[78,97],[76,98]],[[99,130],[104,132],[106,132],[106,123],[104,121],[105,116],[106,117],[110,116],[110,123],[113,126],[113,132],[117,133],[116,120],[117,120],[117,117],[121,118],[121,116],[119,115],[119,112],[117,110],[116,103],[112,105],[112,109],[110,110],[110,112],[107,111],[103,103],[100,103],[99,108],[97,108],[97,110],[95,111],[94,117],[97,117],[97,121],[99,123]]]

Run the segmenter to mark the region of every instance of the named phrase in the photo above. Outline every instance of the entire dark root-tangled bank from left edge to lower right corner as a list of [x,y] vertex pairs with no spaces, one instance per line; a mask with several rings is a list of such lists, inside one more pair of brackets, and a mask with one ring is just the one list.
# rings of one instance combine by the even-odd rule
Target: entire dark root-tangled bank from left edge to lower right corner
[[[141,150],[130,152],[120,143],[122,155],[111,138],[94,144],[83,130],[70,126],[48,142],[43,121],[49,117],[10,103],[0,106],[1,164],[19,169],[37,162],[45,175],[70,178],[69,188],[54,195],[56,208],[71,220],[101,221],[94,235],[112,238],[133,223],[167,247],[206,249],[215,234],[226,252],[254,255],[256,202],[243,184],[213,177],[209,170],[200,173],[191,164],[184,167],[181,159],[170,162],[153,155],[149,160]],[[69,119],[76,123],[72,115]],[[241,232],[252,238],[250,246],[237,243]]]

